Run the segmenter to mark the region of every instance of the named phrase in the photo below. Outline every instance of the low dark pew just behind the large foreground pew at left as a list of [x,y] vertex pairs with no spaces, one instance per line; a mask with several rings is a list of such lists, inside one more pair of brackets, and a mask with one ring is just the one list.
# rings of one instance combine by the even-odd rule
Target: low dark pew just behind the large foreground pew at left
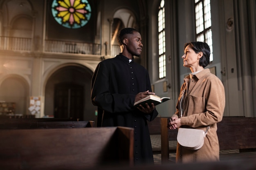
[[86,128],[93,127],[94,121],[70,121],[64,119],[0,119],[0,129],[35,128]]

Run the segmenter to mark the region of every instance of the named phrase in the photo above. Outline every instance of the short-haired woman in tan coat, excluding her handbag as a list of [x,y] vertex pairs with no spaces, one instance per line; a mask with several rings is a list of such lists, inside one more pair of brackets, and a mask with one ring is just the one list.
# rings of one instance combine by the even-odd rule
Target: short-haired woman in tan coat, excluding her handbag
[[220,79],[208,68],[210,48],[205,42],[189,42],[184,45],[183,66],[191,72],[184,78],[177,101],[177,111],[171,117],[168,127],[183,126],[206,130],[204,145],[190,150],[177,144],[176,162],[219,161],[217,123],[222,120],[225,108],[225,91]]

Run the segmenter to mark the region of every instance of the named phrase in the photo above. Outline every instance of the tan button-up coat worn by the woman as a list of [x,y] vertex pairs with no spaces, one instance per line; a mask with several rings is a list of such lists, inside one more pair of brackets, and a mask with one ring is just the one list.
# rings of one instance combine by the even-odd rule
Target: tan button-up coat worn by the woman
[[191,80],[190,76],[184,78],[176,108],[173,116],[180,117],[182,111],[182,126],[203,130],[210,126],[204,145],[199,150],[189,150],[177,144],[176,162],[218,161],[217,123],[222,120],[225,108],[225,91],[220,79],[211,74],[208,68],[191,75]]

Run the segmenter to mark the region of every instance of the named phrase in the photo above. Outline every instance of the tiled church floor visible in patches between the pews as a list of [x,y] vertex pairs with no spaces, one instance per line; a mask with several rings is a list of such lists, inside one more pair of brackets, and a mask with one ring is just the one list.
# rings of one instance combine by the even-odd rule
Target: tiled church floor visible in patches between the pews
[[[151,139],[151,145],[152,149],[154,148],[161,149],[161,135],[150,135]],[[170,147],[175,147],[177,145],[177,141],[169,141],[169,148]],[[220,154],[225,154],[225,153],[238,153],[238,149],[234,150],[221,150]],[[154,162],[155,164],[161,164],[161,154],[154,154]],[[170,153],[169,155],[170,159],[175,160],[176,153]]]

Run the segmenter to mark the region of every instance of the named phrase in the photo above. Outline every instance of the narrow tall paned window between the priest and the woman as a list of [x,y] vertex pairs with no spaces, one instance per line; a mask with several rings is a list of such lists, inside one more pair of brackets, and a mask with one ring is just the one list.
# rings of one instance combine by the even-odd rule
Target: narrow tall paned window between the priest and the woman
[[159,79],[161,79],[166,77],[164,0],[161,0],[159,11],[158,11],[158,55],[159,55]]

